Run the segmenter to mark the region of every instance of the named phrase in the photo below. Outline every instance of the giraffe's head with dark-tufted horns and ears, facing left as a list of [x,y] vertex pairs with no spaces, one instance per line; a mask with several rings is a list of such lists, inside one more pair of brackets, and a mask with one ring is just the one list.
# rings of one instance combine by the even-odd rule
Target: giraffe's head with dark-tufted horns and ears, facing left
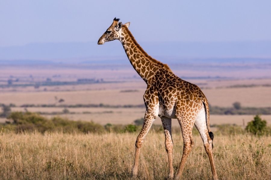
[[120,39],[120,32],[121,32],[120,29],[123,26],[126,26],[128,28],[130,25],[130,22],[122,24],[122,22],[119,22],[119,20],[120,19],[114,18],[111,26],[109,26],[109,28],[107,28],[106,32],[98,40],[98,44],[104,44],[107,41],[113,41],[115,39]]

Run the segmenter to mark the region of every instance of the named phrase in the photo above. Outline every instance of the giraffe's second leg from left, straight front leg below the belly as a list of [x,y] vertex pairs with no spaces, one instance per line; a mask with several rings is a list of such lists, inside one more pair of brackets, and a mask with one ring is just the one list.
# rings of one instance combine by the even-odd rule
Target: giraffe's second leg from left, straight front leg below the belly
[[165,145],[168,155],[168,166],[169,166],[169,174],[168,178],[173,179],[174,171],[173,171],[173,160],[172,160],[172,152],[173,152],[173,141],[171,134],[171,119],[167,117],[161,117],[161,121],[163,124],[164,132],[165,132]]

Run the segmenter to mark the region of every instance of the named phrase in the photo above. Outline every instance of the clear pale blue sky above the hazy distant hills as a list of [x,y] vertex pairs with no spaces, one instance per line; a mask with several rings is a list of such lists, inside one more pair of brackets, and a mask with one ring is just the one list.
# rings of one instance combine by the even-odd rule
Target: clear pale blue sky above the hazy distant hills
[[98,41],[116,16],[138,41],[271,40],[271,1],[0,1],[0,47]]

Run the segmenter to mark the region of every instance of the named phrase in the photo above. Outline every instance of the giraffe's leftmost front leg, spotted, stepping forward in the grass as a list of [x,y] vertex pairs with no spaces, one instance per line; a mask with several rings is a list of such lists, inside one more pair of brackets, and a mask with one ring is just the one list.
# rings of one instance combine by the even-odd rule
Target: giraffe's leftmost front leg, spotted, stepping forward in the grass
[[149,132],[149,130],[151,128],[152,123],[154,122],[154,119],[156,119],[156,117],[154,117],[152,113],[148,113],[148,112],[145,113],[145,118],[144,118],[144,123],[143,123],[142,129],[136,139],[135,162],[134,162],[134,166],[132,169],[132,176],[133,177],[137,176],[140,148],[142,146],[144,138],[146,137],[147,133]]

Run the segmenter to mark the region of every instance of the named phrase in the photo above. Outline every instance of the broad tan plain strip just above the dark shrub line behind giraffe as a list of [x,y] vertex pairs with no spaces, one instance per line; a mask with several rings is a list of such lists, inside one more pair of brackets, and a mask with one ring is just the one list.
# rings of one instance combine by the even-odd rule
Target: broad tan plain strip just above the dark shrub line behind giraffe
[[[13,103],[17,106],[55,104],[55,97],[63,98],[65,100],[63,104],[144,104],[143,95],[146,85],[143,81],[85,86],[88,86],[89,90],[4,92],[0,94],[0,100],[1,103]],[[122,92],[123,90],[136,91]],[[244,107],[271,107],[271,87],[203,88],[202,91],[213,106],[230,107],[232,103],[238,101]]]

